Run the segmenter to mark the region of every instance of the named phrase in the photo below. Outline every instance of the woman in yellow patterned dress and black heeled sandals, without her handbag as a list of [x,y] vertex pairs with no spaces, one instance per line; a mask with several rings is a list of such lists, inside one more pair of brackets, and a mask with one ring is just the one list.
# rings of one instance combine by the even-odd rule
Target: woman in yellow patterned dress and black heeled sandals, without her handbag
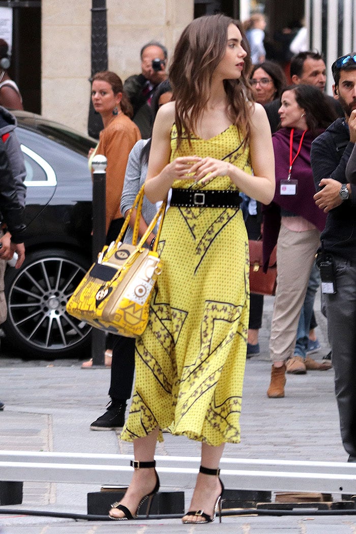
[[202,442],[185,523],[213,521],[223,493],[224,444],[240,441],[249,318],[249,256],[239,191],[274,194],[270,126],[253,104],[248,45],[225,15],[195,19],[170,69],[174,101],[153,128],[146,194],[172,198],[159,250],[163,262],[146,331],[136,342],[136,384],[121,438],[135,468],[113,519],[131,519],[159,490],[154,452],[161,429]]

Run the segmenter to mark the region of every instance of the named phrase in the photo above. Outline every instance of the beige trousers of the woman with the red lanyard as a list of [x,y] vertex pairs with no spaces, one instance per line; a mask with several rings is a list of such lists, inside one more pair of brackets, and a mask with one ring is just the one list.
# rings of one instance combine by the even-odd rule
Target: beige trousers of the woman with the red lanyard
[[300,310],[319,245],[319,230],[292,232],[281,225],[277,243],[277,288],[270,339],[273,362],[282,362],[294,355]]

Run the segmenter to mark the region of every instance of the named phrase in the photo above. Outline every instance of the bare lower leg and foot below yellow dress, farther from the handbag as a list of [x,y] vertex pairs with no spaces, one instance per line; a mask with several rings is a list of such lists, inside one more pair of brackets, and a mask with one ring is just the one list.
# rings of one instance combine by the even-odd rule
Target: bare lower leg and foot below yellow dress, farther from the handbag
[[[203,467],[207,467],[208,469],[219,469],[220,458],[223,454],[224,446],[225,444],[218,447],[213,447],[211,445],[207,445],[206,443],[202,443],[201,465]],[[218,476],[199,473],[196,479],[189,511],[203,510],[205,514],[208,514],[210,517],[212,517],[216,501],[221,491],[222,488]],[[199,522],[201,521],[201,516],[187,514],[183,517],[182,521],[184,522],[187,519],[189,522]]]

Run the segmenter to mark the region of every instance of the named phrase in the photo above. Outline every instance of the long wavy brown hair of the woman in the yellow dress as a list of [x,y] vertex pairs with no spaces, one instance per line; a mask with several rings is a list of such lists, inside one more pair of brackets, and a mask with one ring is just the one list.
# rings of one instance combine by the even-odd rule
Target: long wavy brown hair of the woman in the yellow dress
[[231,120],[250,138],[251,103],[254,96],[249,83],[250,47],[239,21],[223,14],[205,15],[193,20],[181,34],[173,54],[169,72],[173,98],[176,101],[178,147],[183,131],[189,142],[197,121],[210,96],[212,76],[223,59],[227,46],[227,28],[235,25],[241,32],[242,46],[247,51],[241,77],[224,80]]

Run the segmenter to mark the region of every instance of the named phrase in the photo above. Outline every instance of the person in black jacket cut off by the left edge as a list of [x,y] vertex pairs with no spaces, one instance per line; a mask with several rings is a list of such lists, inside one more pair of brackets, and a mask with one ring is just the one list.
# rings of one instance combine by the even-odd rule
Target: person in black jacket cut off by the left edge
[[[18,183],[14,179],[4,147],[0,139],[0,324],[6,320],[7,308],[4,295],[4,273],[6,261],[13,253],[18,254],[16,268],[25,260],[23,235],[26,231],[23,199],[20,198]],[[0,410],[4,403],[0,402]]]

